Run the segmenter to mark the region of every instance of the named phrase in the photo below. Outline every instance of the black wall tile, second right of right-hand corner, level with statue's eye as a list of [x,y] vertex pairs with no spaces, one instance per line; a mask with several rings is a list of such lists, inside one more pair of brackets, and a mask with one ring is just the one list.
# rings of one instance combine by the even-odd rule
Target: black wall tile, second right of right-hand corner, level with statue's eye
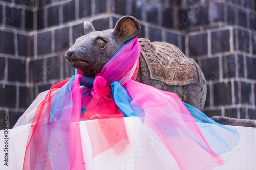
[[230,50],[229,30],[211,32],[211,53],[220,53]]

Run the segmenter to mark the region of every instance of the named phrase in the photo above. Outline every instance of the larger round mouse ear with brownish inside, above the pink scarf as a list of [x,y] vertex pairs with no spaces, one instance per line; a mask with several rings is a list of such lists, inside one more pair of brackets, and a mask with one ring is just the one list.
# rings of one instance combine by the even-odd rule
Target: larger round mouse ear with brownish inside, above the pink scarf
[[124,16],[119,19],[113,31],[113,35],[120,41],[127,42],[140,34],[141,27],[137,19],[132,16]]

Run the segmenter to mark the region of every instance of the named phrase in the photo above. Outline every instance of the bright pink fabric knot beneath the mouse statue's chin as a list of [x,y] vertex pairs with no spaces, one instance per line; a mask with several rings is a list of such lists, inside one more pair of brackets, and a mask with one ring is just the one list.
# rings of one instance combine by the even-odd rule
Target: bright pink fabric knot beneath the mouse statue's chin
[[102,76],[96,76],[93,82],[93,88],[91,90],[91,94],[94,98],[100,98],[102,96],[109,96],[111,93],[110,84],[106,84],[107,81]]

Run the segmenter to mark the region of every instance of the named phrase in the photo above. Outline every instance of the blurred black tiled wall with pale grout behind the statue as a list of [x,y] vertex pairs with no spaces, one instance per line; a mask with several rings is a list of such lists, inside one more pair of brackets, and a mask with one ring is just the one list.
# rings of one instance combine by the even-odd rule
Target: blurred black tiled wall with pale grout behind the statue
[[0,0],[0,129],[38,93],[74,74],[63,59],[83,22],[113,28],[136,17],[139,37],[178,46],[207,80],[204,112],[256,119],[255,0]]

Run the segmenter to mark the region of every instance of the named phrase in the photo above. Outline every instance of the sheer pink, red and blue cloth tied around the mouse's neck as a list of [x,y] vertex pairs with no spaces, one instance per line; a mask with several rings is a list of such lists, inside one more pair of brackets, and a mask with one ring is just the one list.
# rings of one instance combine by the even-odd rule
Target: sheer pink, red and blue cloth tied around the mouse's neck
[[[85,169],[80,120],[115,118],[111,121],[117,122],[118,128],[108,127],[106,131],[105,122],[98,121],[97,126],[87,129],[90,140],[94,141],[93,156],[110,148],[120,154],[129,144],[123,120],[127,116],[140,117],[145,126],[161,134],[160,140],[180,169],[210,169],[223,164],[218,154],[231,150],[235,144],[230,145],[225,136],[207,124],[198,127],[196,122],[215,122],[183,103],[175,93],[134,81],[139,56],[140,44],[134,38],[95,77],[84,77],[78,70],[77,75],[52,86],[33,118],[23,169]],[[231,128],[223,128],[237,135]],[[145,129],[141,131],[146,134]],[[95,135],[90,135],[97,130],[108,136],[103,147],[97,145]],[[220,143],[220,148],[210,148],[209,140]],[[209,163],[212,161],[214,166]]]

